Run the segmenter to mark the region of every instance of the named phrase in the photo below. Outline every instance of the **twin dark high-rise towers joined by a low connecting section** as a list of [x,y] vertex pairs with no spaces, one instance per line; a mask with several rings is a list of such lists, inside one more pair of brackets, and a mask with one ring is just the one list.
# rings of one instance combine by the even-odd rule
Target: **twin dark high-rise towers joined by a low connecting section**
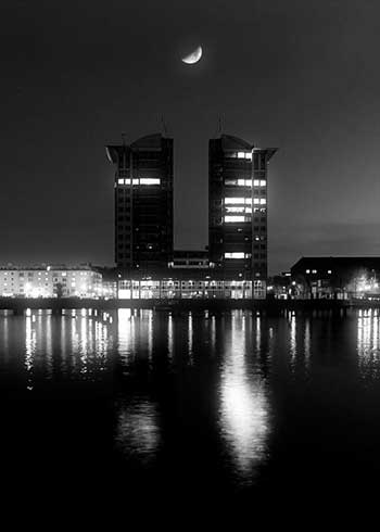
[[[263,297],[268,270],[268,162],[275,148],[256,148],[221,135],[208,142],[207,261],[193,264],[199,286],[248,287]],[[115,262],[125,278],[176,279],[174,141],[161,134],[106,147],[115,172]],[[195,252],[190,252],[193,257]],[[203,256],[206,252],[201,252]],[[183,252],[186,255],[186,252]],[[189,253],[188,253],[189,256]],[[175,268],[177,266],[177,268]],[[195,292],[194,292],[195,293]],[[245,288],[243,292],[245,293]]]

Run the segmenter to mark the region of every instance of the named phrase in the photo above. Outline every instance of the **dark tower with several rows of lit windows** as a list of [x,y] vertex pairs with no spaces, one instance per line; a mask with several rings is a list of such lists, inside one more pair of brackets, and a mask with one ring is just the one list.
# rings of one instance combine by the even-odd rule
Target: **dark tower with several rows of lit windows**
[[266,293],[268,161],[276,151],[228,135],[208,143],[210,261],[226,279],[253,281],[254,297]]

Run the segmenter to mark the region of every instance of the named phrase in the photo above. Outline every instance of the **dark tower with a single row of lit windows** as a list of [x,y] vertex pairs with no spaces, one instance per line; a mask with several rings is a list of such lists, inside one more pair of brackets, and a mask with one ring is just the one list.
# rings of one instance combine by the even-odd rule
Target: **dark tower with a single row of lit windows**
[[115,173],[115,262],[154,275],[173,261],[173,139],[107,145]]

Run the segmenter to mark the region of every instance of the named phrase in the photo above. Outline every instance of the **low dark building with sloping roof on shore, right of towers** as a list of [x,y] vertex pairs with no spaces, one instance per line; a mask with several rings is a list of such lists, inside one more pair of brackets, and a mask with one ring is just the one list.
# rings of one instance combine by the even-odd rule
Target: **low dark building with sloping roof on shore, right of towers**
[[291,268],[303,299],[379,299],[380,257],[311,256]]

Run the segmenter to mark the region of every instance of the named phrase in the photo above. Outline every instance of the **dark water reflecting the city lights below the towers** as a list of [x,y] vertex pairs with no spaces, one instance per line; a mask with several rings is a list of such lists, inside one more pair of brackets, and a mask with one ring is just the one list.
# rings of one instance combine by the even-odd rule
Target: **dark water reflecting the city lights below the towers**
[[17,501],[71,504],[366,499],[380,473],[379,321],[3,313],[2,482]]

